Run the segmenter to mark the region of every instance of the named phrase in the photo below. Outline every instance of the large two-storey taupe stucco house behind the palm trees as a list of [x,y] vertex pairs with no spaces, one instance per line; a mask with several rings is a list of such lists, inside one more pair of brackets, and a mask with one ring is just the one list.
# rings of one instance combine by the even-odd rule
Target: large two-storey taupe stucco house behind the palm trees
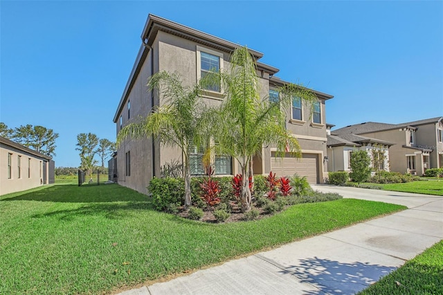
[[[174,23],[168,19],[149,15],[141,35],[141,47],[136,62],[129,75],[123,96],[120,99],[114,123],[116,132],[128,122],[139,116],[147,116],[162,101],[147,89],[147,80],[159,71],[181,74],[183,83],[191,85],[210,69],[228,69],[230,53],[239,45],[219,37],[208,35],[199,30]],[[260,60],[262,53],[249,49],[255,60]],[[270,99],[278,97],[276,89],[287,83],[275,77],[278,69],[257,62],[257,75],[261,83],[261,96]],[[329,94],[314,91],[318,102],[314,114],[299,101],[294,100],[287,110],[287,129],[298,138],[302,148],[302,159],[275,157],[273,147],[263,147],[262,153],[253,159],[255,174],[269,174],[272,170],[277,175],[306,175],[310,182],[322,183],[327,175],[324,158],[326,156],[325,101],[333,98]],[[220,89],[209,89],[204,98],[210,105],[217,105],[223,100]],[[201,159],[203,151],[191,150],[191,174],[203,174]],[[150,138],[143,140],[128,139],[118,148],[115,162],[118,183],[147,193],[146,187],[152,177],[161,177],[165,168],[171,170],[181,165],[181,152],[175,147],[161,146],[159,141]],[[216,175],[235,175],[239,166],[231,157],[215,157]]]

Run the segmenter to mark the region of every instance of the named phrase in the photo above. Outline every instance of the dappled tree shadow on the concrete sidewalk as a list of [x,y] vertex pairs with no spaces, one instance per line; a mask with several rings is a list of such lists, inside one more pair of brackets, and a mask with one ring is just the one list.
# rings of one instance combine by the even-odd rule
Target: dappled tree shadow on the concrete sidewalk
[[300,265],[286,267],[284,274],[292,274],[318,288],[318,292],[305,290],[303,294],[355,294],[377,282],[396,267],[371,265],[366,262],[339,262],[318,257],[300,260]]

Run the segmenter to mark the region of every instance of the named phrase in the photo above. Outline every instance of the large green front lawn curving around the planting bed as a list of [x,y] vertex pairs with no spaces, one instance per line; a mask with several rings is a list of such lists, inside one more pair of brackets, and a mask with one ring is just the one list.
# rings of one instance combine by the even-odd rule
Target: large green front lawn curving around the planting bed
[[0,294],[102,294],[404,208],[340,199],[204,224],[116,184],[45,186],[0,197]]

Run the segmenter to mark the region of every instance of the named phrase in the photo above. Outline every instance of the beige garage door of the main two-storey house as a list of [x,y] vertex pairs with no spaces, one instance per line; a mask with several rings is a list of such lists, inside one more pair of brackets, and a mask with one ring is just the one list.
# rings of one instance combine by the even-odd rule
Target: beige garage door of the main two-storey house
[[298,174],[306,177],[310,184],[318,183],[318,155],[302,154],[302,158],[297,159],[286,154],[284,158],[275,157],[275,152],[271,152],[271,171],[278,176],[291,176]]

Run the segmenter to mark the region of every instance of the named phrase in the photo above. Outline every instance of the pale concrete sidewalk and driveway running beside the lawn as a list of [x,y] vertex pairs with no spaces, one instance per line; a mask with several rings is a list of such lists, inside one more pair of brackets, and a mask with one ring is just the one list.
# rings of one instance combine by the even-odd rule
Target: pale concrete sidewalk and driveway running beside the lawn
[[409,209],[120,294],[354,294],[443,239],[443,197],[313,188]]

